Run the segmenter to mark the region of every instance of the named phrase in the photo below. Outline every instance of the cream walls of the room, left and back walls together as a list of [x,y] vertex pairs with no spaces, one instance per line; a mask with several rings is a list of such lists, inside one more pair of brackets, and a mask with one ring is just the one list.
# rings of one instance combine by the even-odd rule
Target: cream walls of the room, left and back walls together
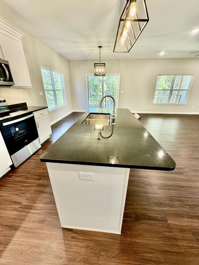
[[[3,17],[0,18],[13,25]],[[16,25],[13,26],[18,28]],[[0,97],[6,97],[8,104],[26,102],[29,106],[47,106],[45,95],[39,95],[39,91],[45,94],[40,71],[42,65],[63,72],[66,87],[67,106],[50,112],[50,122],[58,121],[72,110],[86,111],[88,108],[86,74],[94,72],[94,63],[97,61],[68,61],[30,34],[24,33],[22,43],[32,88],[0,87]],[[124,90],[124,93],[120,94],[119,107],[138,113],[199,114],[199,58],[103,60],[103,62],[106,63],[107,74],[121,73],[120,90]],[[195,75],[187,105],[153,105],[158,74]]]

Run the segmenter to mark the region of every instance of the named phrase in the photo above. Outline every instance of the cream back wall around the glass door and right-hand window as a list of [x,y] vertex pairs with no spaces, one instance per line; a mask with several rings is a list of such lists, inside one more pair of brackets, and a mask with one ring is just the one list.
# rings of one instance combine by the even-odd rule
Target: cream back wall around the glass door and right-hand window
[[[119,107],[132,112],[199,114],[199,58],[103,60],[106,73],[121,73]],[[94,61],[69,61],[73,109],[87,109],[86,74],[94,72]],[[187,105],[153,105],[159,74],[194,74]],[[147,105],[147,108],[146,108]],[[192,108],[194,106],[194,108]]]

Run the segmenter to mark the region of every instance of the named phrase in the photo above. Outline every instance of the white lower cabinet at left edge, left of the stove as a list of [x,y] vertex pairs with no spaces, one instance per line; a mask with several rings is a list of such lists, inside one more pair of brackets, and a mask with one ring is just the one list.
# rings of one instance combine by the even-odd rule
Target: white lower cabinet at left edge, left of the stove
[[2,177],[7,171],[10,170],[11,165],[12,160],[0,132],[0,177]]

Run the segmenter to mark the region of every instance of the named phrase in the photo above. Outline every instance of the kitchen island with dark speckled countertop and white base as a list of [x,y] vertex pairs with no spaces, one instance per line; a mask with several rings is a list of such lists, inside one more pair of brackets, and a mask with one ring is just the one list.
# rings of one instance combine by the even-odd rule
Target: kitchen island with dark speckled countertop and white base
[[108,139],[94,125],[81,124],[88,115],[40,160],[48,168],[62,227],[121,234],[130,168],[171,171],[175,162],[128,109],[116,109],[114,127],[103,126],[104,137],[113,129]]

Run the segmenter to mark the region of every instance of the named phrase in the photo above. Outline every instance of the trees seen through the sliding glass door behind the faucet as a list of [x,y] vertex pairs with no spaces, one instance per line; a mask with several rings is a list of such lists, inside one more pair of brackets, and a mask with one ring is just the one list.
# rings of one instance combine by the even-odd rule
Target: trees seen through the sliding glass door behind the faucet
[[[88,76],[89,107],[98,107],[105,95],[111,95],[117,105],[118,76]],[[113,100],[104,98],[103,107],[112,107]]]

